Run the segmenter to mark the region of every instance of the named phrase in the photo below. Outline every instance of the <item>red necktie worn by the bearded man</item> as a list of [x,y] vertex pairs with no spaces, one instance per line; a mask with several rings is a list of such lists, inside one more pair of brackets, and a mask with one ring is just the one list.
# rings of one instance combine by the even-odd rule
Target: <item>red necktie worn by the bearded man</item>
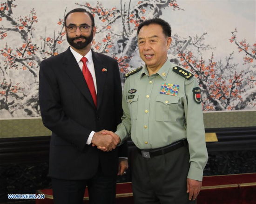
[[88,70],[88,67],[86,65],[87,58],[82,57],[81,62],[83,63],[83,75],[84,75],[85,81],[86,81],[88,88],[91,92],[91,95],[93,97],[94,104],[97,107],[97,95],[96,95],[96,91],[95,91],[95,87],[94,87],[94,80],[91,75],[91,72]]

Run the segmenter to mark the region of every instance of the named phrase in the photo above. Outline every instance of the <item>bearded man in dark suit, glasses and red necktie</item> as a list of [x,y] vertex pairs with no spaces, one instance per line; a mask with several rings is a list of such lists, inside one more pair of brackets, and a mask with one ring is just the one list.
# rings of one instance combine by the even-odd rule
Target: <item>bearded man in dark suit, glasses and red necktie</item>
[[[65,17],[70,47],[40,64],[39,100],[44,125],[52,131],[49,175],[54,203],[82,203],[86,186],[92,204],[114,204],[116,175],[128,168],[126,147],[115,131],[121,122],[117,61],[91,50],[94,17],[74,9]],[[86,57],[86,58],[85,58]],[[94,146],[108,147],[101,152]],[[118,166],[119,164],[119,166]]]

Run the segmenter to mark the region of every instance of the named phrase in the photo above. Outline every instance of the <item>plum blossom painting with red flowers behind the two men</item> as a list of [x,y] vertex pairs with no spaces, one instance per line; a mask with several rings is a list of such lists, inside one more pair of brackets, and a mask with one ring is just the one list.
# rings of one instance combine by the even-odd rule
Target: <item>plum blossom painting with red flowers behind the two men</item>
[[162,18],[168,60],[197,77],[203,111],[256,111],[256,1],[1,0],[1,120],[40,117],[40,62],[68,48],[64,16],[77,7],[94,15],[93,49],[118,61],[122,83],[143,64],[138,25]]

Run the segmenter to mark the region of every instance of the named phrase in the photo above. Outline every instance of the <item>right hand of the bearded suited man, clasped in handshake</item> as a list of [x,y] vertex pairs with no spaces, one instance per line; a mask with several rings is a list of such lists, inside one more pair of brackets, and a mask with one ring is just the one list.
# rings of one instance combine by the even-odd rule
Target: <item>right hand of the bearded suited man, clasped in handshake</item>
[[[114,139],[114,137],[109,134],[102,134],[103,132],[106,132],[106,130],[101,130],[100,132],[94,133],[94,136],[91,141],[93,146],[105,147],[106,151],[104,151],[104,152],[111,151],[112,149],[115,149],[116,145],[120,142],[120,139],[118,141],[118,140]],[[108,132],[111,132],[111,131],[108,131]]]

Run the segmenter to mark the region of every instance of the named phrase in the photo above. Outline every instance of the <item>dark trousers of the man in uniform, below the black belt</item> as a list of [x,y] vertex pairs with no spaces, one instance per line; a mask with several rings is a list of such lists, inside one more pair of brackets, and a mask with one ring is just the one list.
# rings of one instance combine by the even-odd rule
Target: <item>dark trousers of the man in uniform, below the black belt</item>
[[132,163],[132,188],[135,204],[195,204],[189,201],[187,176],[189,147],[153,158],[142,158],[135,151]]

